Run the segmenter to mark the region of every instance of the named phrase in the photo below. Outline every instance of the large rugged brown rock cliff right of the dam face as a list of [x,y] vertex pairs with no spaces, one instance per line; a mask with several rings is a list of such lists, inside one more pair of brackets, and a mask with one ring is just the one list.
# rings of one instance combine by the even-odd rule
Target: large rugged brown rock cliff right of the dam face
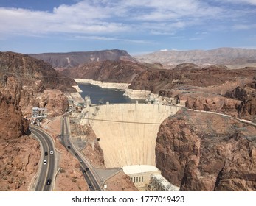
[[256,128],[211,113],[181,111],[156,140],[156,166],[181,191],[256,191]]

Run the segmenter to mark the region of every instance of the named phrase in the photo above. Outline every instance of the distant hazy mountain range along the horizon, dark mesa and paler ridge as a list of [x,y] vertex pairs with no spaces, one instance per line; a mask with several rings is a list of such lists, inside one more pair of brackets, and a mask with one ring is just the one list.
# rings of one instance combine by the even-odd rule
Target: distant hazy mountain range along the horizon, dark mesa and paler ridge
[[256,49],[218,48],[212,50],[156,51],[132,57],[127,51],[112,49],[102,51],[77,51],[68,53],[28,54],[44,60],[53,68],[73,68],[83,63],[96,63],[105,60],[127,60],[134,63],[160,63],[165,68],[174,68],[181,63],[194,63],[199,66],[226,65],[229,68],[256,67]]

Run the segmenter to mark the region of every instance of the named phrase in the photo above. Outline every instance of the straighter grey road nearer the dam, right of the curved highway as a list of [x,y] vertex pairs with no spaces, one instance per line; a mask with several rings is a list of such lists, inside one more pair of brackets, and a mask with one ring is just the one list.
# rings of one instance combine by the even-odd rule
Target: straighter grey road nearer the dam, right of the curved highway
[[83,177],[85,178],[90,191],[101,191],[100,185],[94,177],[93,172],[88,163],[86,163],[86,158],[83,154],[73,146],[69,138],[70,128],[69,128],[69,117],[63,116],[61,124],[61,143],[66,149],[71,152],[80,161],[81,172],[83,172]]

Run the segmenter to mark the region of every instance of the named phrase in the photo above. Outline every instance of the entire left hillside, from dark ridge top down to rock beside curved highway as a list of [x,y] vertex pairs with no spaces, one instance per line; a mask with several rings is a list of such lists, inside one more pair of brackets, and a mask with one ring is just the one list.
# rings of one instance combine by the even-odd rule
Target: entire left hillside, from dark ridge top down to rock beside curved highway
[[0,188],[28,191],[38,171],[38,141],[27,135],[32,107],[46,107],[49,116],[66,110],[63,92],[75,91],[74,80],[49,64],[24,54],[0,52]]

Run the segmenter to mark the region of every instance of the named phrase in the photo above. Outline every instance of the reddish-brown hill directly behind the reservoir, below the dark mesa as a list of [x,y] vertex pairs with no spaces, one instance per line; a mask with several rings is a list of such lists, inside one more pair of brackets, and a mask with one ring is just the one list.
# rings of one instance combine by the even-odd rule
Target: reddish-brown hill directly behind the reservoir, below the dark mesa
[[103,61],[86,63],[76,68],[65,69],[61,74],[75,79],[94,79],[101,82],[131,83],[148,68],[131,61]]

